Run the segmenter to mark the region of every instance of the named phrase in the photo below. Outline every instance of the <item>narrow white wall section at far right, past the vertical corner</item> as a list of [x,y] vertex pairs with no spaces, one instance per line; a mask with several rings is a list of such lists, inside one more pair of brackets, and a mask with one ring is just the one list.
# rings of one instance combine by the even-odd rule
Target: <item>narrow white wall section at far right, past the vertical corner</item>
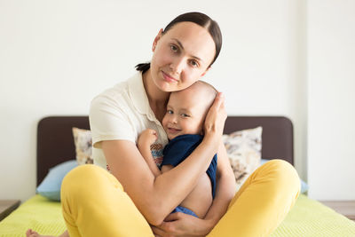
[[308,181],[320,200],[355,199],[355,2],[308,2]]

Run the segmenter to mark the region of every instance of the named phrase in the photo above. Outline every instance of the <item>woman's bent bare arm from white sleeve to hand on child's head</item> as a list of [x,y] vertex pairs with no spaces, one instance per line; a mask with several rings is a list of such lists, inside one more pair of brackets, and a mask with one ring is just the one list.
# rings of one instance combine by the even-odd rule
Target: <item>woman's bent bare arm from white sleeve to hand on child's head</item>
[[[184,162],[157,178],[149,170],[137,146],[126,140],[102,141],[106,162],[139,211],[152,225],[160,225],[170,211],[193,190],[218,151],[225,124],[224,99],[220,94],[209,109],[205,136]],[[203,159],[201,159],[203,157]]]

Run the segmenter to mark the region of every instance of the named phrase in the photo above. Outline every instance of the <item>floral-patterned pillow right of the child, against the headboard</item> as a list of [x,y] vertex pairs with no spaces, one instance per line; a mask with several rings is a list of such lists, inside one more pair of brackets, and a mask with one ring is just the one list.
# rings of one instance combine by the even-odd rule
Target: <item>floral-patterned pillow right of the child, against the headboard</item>
[[223,135],[225,149],[234,172],[237,190],[248,176],[260,166],[263,128],[237,130]]

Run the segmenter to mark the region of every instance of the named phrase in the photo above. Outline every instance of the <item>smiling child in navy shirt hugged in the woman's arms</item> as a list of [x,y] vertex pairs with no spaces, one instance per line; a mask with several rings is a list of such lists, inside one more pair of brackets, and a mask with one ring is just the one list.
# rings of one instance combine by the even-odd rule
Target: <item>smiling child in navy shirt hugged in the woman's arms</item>
[[[163,150],[161,170],[155,164],[150,149],[157,139],[156,131],[148,129],[139,135],[138,150],[155,177],[183,162],[201,143],[204,120],[216,95],[216,89],[202,81],[170,94],[167,112],[162,119],[162,127],[170,142]],[[205,217],[215,196],[216,170],[217,154],[193,191],[172,212],[180,211],[194,217]]]

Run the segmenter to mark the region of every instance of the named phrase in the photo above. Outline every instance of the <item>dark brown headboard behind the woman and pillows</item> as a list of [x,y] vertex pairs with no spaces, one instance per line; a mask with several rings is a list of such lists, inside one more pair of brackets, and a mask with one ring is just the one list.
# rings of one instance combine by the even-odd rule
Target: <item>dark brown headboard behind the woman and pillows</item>
[[[229,116],[225,133],[263,127],[262,157],[283,159],[294,163],[293,126],[280,116]],[[90,129],[88,116],[50,116],[38,122],[37,127],[37,186],[48,170],[67,160],[75,159],[72,127]]]

